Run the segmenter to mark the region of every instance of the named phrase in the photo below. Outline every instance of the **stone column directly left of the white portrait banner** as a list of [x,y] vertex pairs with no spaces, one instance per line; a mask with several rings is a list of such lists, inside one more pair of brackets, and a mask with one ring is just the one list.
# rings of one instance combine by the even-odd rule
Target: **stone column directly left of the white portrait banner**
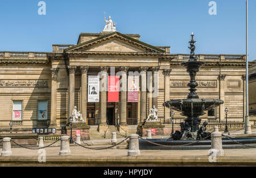
[[87,72],[88,66],[80,66],[81,69],[81,114],[82,117],[87,119],[86,104],[87,104]]

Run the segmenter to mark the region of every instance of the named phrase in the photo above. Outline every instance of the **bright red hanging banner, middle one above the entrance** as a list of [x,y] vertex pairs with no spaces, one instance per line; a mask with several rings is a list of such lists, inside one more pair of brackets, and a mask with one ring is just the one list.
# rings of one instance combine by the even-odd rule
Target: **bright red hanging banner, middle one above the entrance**
[[108,102],[119,101],[119,76],[109,75]]

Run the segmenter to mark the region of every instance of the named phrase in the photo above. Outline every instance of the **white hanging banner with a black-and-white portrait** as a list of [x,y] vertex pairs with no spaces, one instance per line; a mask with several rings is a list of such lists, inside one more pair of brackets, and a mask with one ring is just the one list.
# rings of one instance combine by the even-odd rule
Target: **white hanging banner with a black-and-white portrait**
[[88,102],[99,102],[100,77],[97,75],[88,76]]

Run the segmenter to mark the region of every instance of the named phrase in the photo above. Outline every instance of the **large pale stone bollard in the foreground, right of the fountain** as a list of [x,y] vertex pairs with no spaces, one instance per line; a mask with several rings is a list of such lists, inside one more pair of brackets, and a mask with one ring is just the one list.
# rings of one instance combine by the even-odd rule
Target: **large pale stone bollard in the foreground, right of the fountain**
[[214,127],[214,132],[210,134],[212,138],[212,147],[209,150],[209,155],[224,156],[224,150],[222,149],[222,135],[218,132],[218,126]]

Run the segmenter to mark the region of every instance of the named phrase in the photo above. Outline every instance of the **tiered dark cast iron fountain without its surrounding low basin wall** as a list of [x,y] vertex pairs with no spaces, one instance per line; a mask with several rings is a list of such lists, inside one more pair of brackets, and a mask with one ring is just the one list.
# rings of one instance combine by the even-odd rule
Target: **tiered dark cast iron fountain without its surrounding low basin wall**
[[[224,101],[220,99],[199,99],[199,96],[196,93],[196,87],[198,83],[196,82],[196,73],[199,71],[200,67],[204,65],[204,62],[197,61],[197,57],[195,56],[195,43],[196,41],[193,39],[193,33],[191,35],[191,41],[189,41],[191,49],[191,54],[189,60],[181,63],[181,65],[187,68],[187,72],[190,76],[190,82],[188,83],[189,94],[187,99],[180,100],[171,100],[163,103],[164,107],[174,109],[176,111],[181,112],[181,115],[187,116],[185,119],[185,123],[181,124],[181,131],[176,131],[175,134],[171,135],[171,139],[202,139],[203,137],[208,137],[208,134],[204,134],[199,129],[199,125],[201,123],[200,116],[205,114],[205,111],[209,109],[216,108],[220,104],[224,104]],[[204,124],[205,126],[207,123]],[[201,132],[199,132],[201,130]]]

